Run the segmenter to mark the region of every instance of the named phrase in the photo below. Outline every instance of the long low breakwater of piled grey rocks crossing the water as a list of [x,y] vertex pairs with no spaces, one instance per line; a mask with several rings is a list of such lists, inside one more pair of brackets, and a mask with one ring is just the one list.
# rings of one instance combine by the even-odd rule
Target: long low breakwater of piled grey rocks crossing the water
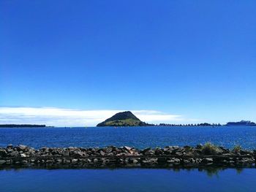
[[256,150],[233,150],[207,143],[196,147],[0,147],[0,168],[100,168],[100,167],[255,167]]

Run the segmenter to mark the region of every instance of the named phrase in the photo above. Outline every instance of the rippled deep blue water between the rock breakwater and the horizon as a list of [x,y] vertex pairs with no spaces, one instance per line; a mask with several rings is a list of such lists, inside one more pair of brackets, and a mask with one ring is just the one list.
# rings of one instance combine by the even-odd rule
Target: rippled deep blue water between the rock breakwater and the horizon
[[256,149],[256,127],[0,128],[0,146],[165,147],[212,142]]

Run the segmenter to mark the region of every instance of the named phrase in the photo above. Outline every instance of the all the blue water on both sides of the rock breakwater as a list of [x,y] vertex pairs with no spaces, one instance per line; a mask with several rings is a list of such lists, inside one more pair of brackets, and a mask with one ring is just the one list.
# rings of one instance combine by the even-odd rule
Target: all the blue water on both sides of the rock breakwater
[[[165,147],[212,142],[256,149],[256,127],[0,128],[0,146]],[[9,169],[3,192],[255,191],[256,169]]]

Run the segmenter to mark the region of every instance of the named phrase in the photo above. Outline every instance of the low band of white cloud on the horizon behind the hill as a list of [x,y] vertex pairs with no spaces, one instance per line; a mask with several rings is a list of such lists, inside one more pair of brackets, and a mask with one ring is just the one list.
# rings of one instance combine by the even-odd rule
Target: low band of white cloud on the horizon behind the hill
[[[106,118],[124,110],[73,110],[53,107],[0,107],[0,123],[35,123],[48,126],[95,126]],[[184,121],[181,115],[155,110],[132,111],[148,123]]]

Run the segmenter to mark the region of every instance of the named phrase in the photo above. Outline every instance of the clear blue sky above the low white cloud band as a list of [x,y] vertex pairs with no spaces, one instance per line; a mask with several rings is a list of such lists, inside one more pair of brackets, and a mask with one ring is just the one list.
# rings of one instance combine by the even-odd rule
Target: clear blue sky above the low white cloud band
[[1,1],[0,106],[256,120],[256,1]]

